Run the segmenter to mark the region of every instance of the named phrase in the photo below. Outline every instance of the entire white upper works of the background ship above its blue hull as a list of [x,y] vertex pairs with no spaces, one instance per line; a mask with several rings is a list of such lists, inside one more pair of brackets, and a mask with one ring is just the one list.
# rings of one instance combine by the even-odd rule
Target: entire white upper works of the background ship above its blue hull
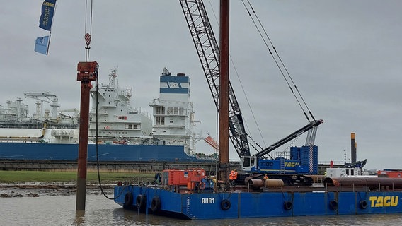
[[[28,116],[23,100],[0,105],[0,143],[67,144],[79,142],[79,112],[60,110],[56,95],[49,92],[25,93],[36,100],[36,112]],[[171,76],[165,68],[160,76],[159,98],[149,102],[152,115],[130,106],[132,89],[121,89],[117,68],[109,74],[107,85],[91,89],[88,143],[101,145],[177,146],[184,153],[195,153],[193,103],[190,102],[190,78],[183,73]],[[43,104],[52,107],[43,112]],[[98,118],[96,117],[98,112]],[[98,125],[98,126],[97,126]],[[96,136],[98,134],[98,136]],[[116,147],[117,148],[117,147]],[[115,148],[113,148],[115,149]],[[159,148],[164,152],[171,148]],[[32,152],[33,150],[26,150]],[[133,149],[133,151],[135,151]],[[175,150],[176,151],[176,150]],[[76,152],[76,150],[74,150]],[[1,157],[1,153],[0,153]],[[174,156],[173,156],[174,157]],[[143,159],[147,157],[137,157]],[[65,159],[65,157],[64,157]]]

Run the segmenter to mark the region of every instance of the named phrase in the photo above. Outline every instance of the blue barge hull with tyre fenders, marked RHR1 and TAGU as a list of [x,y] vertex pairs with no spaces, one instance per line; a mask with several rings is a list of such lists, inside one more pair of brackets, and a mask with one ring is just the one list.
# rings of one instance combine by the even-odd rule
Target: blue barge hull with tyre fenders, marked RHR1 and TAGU
[[118,197],[115,202],[125,208],[191,220],[402,213],[402,191],[180,194],[157,187],[130,185],[116,186],[114,192]]

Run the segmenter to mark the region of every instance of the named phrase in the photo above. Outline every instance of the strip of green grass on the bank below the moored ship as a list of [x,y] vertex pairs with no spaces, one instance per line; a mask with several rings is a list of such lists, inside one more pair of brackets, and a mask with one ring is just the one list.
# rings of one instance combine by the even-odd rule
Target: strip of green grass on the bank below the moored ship
[[[101,181],[151,181],[154,174],[132,172],[101,172]],[[76,172],[0,171],[0,182],[74,182]],[[87,181],[98,181],[97,172],[87,172]]]

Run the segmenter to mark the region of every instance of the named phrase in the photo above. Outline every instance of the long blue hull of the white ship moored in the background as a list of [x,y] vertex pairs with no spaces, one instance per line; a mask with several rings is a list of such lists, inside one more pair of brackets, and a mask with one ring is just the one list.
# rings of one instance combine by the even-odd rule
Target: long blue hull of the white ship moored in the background
[[[74,143],[0,143],[0,159],[77,160],[79,145]],[[192,162],[179,145],[98,145],[100,161]],[[96,145],[88,145],[88,161],[96,160]]]

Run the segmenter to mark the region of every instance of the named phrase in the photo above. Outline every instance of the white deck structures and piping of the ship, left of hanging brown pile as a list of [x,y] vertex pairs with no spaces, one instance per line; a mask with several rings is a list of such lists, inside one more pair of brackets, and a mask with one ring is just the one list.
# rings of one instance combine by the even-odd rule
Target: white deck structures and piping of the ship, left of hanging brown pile
[[[38,100],[33,117],[28,114],[28,105],[21,98],[8,100],[5,106],[0,106],[0,141],[28,143],[77,143],[78,142],[78,111],[60,110],[57,97],[52,101],[52,114],[45,109],[43,114],[42,99],[50,95],[48,92],[25,93],[25,97]],[[72,114],[65,114],[70,112]]]

